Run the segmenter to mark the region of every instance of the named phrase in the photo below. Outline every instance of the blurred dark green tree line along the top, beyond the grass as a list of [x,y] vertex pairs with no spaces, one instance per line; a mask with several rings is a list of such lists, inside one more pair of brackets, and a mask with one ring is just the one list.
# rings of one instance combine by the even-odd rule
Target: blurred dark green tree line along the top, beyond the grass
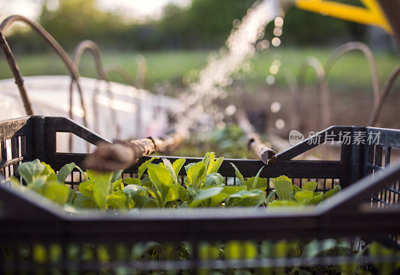
[[[358,0],[341,0],[358,4]],[[92,39],[101,48],[114,50],[210,49],[223,45],[232,22],[242,18],[254,0],[192,0],[187,8],[170,3],[158,20],[132,22],[116,11],[98,9],[96,0],[59,0],[49,9],[43,1],[38,18],[67,50],[82,39]],[[271,33],[273,25],[267,26]],[[283,45],[328,45],[365,40],[366,27],[292,6],[285,14]],[[26,29],[8,36],[14,51],[45,49],[37,35]]]

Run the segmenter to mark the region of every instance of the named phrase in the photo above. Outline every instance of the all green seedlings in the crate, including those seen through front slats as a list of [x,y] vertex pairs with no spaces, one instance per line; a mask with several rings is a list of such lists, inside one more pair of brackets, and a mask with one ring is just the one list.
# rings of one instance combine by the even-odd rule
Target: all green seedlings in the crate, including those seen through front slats
[[[185,159],[179,158],[171,163],[163,158],[159,164],[152,163],[156,158],[158,157],[152,157],[139,166],[137,178],[121,179],[119,178],[121,170],[111,173],[98,173],[91,170],[83,172],[74,163],[64,165],[55,174],[48,164],[40,162],[38,159],[20,164],[18,172],[27,183],[26,188],[34,190],[58,204],[103,210],[131,209],[134,207],[258,207],[261,204],[268,208],[288,205],[301,207],[318,204],[341,189],[337,185],[325,193],[315,191],[318,185],[315,181],[309,181],[300,188],[294,185],[287,176],[282,175],[274,180],[274,189],[265,197],[268,182],[260,177],[262,167],[255,176],[245,179],[237,167],[232,164],[239,183],[227,186],[225,178],[218,173],[223,157],[215,159],[213,152],[206,153],[203,159],[197,163],[189,163],[184,166],[187,174],[184,180],[186,187],[184,187],[178,173],[184,165]],[[85,181],[79,184],[79,191],[73,191],[64,185],[67,176],[74,168],[78,169],[85,178]],[[148,176],[141,179],[146,170]],[[139,247],[140,245],[142,247]],[[354,252],[351,251],[352,245],[335,239],[309,240],[306,242],[287,242],[283,239],[276,243],[263,241],[259,246],[251,241],[241,243],[232,240],[219,245],[201,244],[198,252],[201,259],[218,259],[221,257],[225,259],[255,259],[258,257],[258,253],[262,257],[268,257],[270,251],[275,251],[277,257],[295,255],[314,258],[318,255],[334,256],[351,253],[356,253],[358,257],[366,249],[372,256],[398,255],[398,252],[386,248],[378,242],[371,242]],[[39,248],[36,245],[34,251]],[[102,255],[101,258],[104,262],[109,261],[110,257],[105,245],[88,244],[82,253],[85,257],[89,257],[93,254],[91,250],[94,249],[97,249],[97,253]],[[45,251],[44,248],[42,250]],[[184,247],[183,243],[180,246],[173,247],[169,244],[161,245],[154,242],[139,243],[132,251],[130,253],[132,260],[167,258],[171,251],[181,254],[183,258],[188,258],[192,253],[189,248]],[[159,254],[154,254],[154,251],[159,251]],[[45,252],[40,254],[43,253]],[[125,258],[125,255],[123,258]],[[389,274],[399,267],[398,264],[383,263],[379,268],[381,268],[382,273]],[[287,271],[284,267],[278,268],[276,270],[282,273]],[[347,274],[360,270],[358,264],[355,263],[331,266],[329,269],[331,273],[342,271],[347,272]],[[291,269],[291,272],[301,273],[302,271],[312,272],[313,270],[313,266],[305,266],[295,267]],[[267,268],[265,271],[272,272]]]

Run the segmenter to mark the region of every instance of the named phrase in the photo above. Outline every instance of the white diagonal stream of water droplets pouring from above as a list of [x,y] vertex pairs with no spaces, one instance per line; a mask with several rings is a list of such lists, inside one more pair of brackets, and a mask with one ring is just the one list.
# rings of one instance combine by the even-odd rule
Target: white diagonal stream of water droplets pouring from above
[[[203,105],[204,112],[210,115],[214,122],[223,119],[224,110],[219,111],[215,106],[210,107],[213,99],[218,96],[224,97],[222,91],[232,84],[231,76],[243,80],[246,76],[244,71],[250,74],[253,69],[250,67],[248,70],[248,66],[244,66],[244,69],[240,71],[243,68],[241,64],[254,57],[257,54],[256,49],[268,50],[268,40],[263,39],[259,42],[257,40],[264,37],[266,24],[274,20],[276,14],[277,9],[273,1],[256,1],[241,20],[232,21],[233,28],[225,41],[225,46],[207,57],[206,66],[196,76],[193,71],[190,76],[194,77],[190,77],[192,78],[190,80],[195,80],[195,82],[188,83],[188,88],[179,94],[179,99],[183,104],[181,109],[176,110],[178,121],[175,127],[177,129],[188,129],[195,126],[199,114],[193,112],[192,108],[197,104]],[[279,18],[274,20],[275,27],[281,27],[283,24],[283,19]],[[275,38],[277,40],[273,41],[277,46],[276,43],[280,44],[280,40]],[[267,79],[269,81],[272,79],[274,82],[272,75],[266,78],[268,82]]]

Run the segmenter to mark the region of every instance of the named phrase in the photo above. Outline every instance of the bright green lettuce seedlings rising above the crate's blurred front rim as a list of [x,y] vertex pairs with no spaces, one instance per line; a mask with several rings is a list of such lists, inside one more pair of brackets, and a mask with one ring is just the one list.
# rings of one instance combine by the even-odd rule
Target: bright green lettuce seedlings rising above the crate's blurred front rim
[[[83,172],[74,163],[64,165],[58,174],[46,163],[34,160],[18,166],[18,171],[32,189],[49,199],[75,208],[99,208],[102,210],[131,208],[177,208],[177,207],[258,207],[315,205],[340,190],[336,186],[323,194],[315,192],[317,183],[309,181],[300,189],[287,176],[279,176],[274,181],[274,190],[265,197],[268,183],[260,177],[262,171],[248,179],[233,164],[239,181],[236,185],[226,185],[225,178],[218,173],[223,157],[215,158],[207,152],[201,161],[184,166],[187,176],[184,185],[178,177],[185,163],[184,158],[171,163],[162,158],[158,164],[152,157],[142,163],[137,178],[119,178],[122,170],[99,173],[92,170]],[[64,185],[66,177],[76,168],[84,176],[78,191]],[[147,177],[141,179],[147,170]],[[119,178],[119,179],[118,179]],[[277,198],[277,199],[275,199]]]

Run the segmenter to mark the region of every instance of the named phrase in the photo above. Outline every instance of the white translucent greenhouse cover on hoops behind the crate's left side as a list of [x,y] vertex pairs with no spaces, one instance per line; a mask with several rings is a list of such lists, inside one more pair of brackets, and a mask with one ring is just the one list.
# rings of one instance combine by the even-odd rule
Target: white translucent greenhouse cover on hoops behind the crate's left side
[[[24,79],[35,115],[69,116],[70,76],[26,76]],[[181,108],[179,101],[174,98],[154,95],[129,85],[110,82],[107,88],[105,81],[87,77],[80,77],[79,83],[83,92],[87,127],[109,140],[162,136],[168,125],[167,110]],[[0,80],[0,98],[0,120],[26,115],[14,79]],[[95,108],[98,125],[95,123]],[[116,121],[112,118],[111,109],[115,111]],[[73,120],[83,125],[83,112],[76,86],[73,89],[72,113]],[[117,124],[120,126],[119,136]],[[57,134],[57,151],[69,151],[68,138],[68,134]],[[85,152],[85,142],[74,137],[71,151]]]

